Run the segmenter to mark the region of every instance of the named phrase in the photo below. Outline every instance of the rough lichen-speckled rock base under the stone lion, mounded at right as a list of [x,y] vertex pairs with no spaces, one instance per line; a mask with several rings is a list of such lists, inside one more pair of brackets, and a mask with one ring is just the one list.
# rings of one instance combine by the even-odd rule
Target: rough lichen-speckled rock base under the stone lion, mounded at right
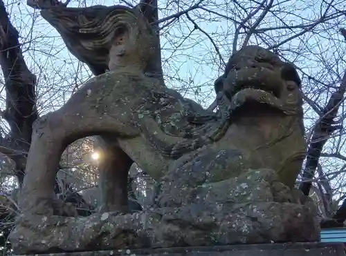
[[89,217],[26,214],[11,235],[16,253],[314,242],[314,216],[313,202],[281,184],[275,172],[248,170],[185,191],[179,207]]

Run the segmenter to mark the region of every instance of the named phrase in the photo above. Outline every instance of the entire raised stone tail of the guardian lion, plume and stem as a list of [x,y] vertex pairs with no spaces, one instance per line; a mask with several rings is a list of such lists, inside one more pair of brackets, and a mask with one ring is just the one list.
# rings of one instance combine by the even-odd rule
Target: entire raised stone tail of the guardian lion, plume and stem
[[138,8],[59,6],[41,14],[60,33],[69,51],[95,75],[120,66],[143,69],[154,55],[157,37]]

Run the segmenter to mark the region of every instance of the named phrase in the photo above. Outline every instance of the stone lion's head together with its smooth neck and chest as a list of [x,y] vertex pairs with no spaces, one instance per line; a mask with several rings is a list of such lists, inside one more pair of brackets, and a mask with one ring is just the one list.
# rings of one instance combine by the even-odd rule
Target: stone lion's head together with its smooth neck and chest
[[236,52],[215,82],[221,114],[227,111],[236,127],[253,127],[248,133],[255,145],[252,159],[271,166],[289,187],[307,149],[300,87],[293,64],[259,46]]

